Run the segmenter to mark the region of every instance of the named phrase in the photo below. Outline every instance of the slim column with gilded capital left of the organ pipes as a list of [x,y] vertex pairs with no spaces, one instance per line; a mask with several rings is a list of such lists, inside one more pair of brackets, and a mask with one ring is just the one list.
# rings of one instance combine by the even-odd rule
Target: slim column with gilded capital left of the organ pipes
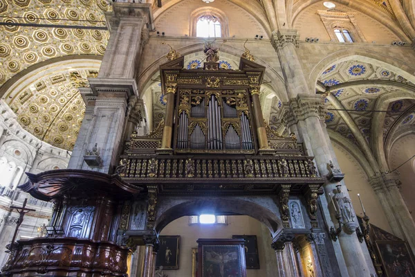
[[167,95],[165,125],[163,127],[163,139],[161,149],[172,149],[173,118],[174,118],[174,96],[176,93],[176,84],[171,84],[165,88]]

